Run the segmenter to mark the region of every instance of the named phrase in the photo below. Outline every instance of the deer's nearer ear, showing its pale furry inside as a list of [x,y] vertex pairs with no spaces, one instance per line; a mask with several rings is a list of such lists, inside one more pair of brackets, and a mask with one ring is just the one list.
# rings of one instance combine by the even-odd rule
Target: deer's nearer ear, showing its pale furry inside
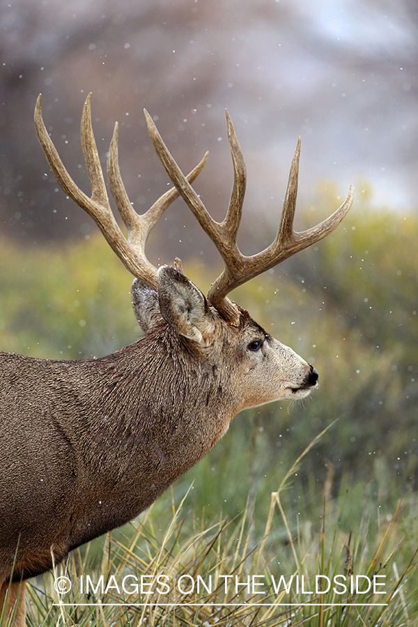
[[176,332],[206,346],[213,330],[208,301],[184,274],[163,265],[157,274],[160,311]]

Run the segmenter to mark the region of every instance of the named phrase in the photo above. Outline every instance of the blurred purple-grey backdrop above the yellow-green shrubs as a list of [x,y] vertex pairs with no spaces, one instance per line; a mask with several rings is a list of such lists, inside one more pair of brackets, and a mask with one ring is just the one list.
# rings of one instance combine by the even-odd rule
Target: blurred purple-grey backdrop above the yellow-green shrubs
[[[248,168],[245,252],[277,223],[298,135],[302,204],[315,204],[321,181],[331,180],[340,196],[355,184],[357,202],[367,183],[376,206],[416,206],[414,0],[3,0],[0,6],[0,221],[12,240],[42,243],[95,229],[55,191],[33,130],[40,92],[47,127],[84,189],[79,120],[92,91],[103,162],[114,121],[121,125],[121,170],[134,207],[145,210],[167,185],[146,133],[146,107],[185,171],[210,151],[196,187],[218,219],[232,180],[229,109]],[[167,254],[212,251],[201,235],[195,241],[194,220],[184,230],[183,214],[183,203],[167,214],[161,231]]]

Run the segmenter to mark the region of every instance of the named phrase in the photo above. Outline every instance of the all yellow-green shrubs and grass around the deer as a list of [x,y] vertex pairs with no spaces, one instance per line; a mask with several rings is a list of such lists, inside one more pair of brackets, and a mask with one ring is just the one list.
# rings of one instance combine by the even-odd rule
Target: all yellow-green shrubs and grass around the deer
[[[234,293],[266,330],[315,364],[318,392],[304,405],[243,412],[222,442],[139,520],[75,552],[55,573],[77,585],[87,574],[93,582],[100,575],[106,582],[114,581],[111,575],[118,582],[127,574],[168,573],[173,581],[212,575],[211,591],[128,598],[116,588],[88,595],[73,585],[68,603],[150,598],[157,605],[67,607],[53,605],[64,596],[48,575],[31,587],[31,624],[415,624],[418,221],[366,209]],[[185,263],[185,272],[204,288],[216,271],[206,274],[199,263]],[[140,332],[129,286],[100,238],[25,251],[3,242],[0,346],[73,359],[135,341]],[[314,582],[316,575],[336,573],[385,574],[387,605],[319,605],[382,603],[371,593],[309,595],[293,586],[291,595],[274,593],[272,577],[304,575]],[[258,580],[264,594],[241,587],[235,595],[233,585],[225,592],[221,575],[235,574],[240,581],[264,575]],[[247,607],[176,605],[202,598]],[[254,599],[276,605],[250,605]],[[277,605],[288,602],[299,605]],[[302,605],[308,602],[314,605]]]

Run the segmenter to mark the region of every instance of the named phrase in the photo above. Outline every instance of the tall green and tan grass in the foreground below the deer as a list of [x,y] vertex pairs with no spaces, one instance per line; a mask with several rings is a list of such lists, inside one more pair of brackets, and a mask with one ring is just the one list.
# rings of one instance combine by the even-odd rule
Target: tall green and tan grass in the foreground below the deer
[[[385,511],[365,501],[351,529],[341,524],[345,493],[332,498],[328,492],[320,508],[298,511],[289,495],[302,489],[295,472],[315,443],[270,495],[268,516],[258,525],[251,497],[239,516],[208,522],[194,507],[193,490],[176,504],[172,489],[162,497],[169,515],[161,515],[160,500],[32,581],[28,624],[412,627],[418,620],[417,536],[410,533],[417,495]],[[358,591],[350,589],[356,575],[362,575]],[[383,585],[375,591],[384,594],[375,594],[373,585],[366,591],[376,575]],[[68,594],[54,589],[63,577],[72,584]]]

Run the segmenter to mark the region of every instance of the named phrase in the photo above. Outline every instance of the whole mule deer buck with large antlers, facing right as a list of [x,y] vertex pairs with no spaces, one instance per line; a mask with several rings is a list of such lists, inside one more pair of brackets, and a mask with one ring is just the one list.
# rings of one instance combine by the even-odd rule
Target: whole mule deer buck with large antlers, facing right
[[[35,124],[56,180],[101,229],[135,277],[132,304],[144,338],[113,355],[49,361],[0,353],[0,607],[25,622],[24,583],[72,549],[123,525],[146,509],[222,438],[233,416],[277,399],[307,396],[318,373],[265,332],[228,294],[331,233],[353,199],[307,231],[293,231],[300,141],[277,237],[254,256],[236,239],[245,193],[245,164],[226,114],[235,178],[223,222],[210,217],[190,185],[206,157],[184,176],[145,112],[148,132],[174,187],[144,215],[125,192],[118,166],[118,125],[107,176],[123,235],[109,205],[90,114],[82,147],[91,197],[65,170],[42,121]],[[206,298],[181,269],[157,270],[146,258],[148,233],[169,205],[183,199],[224,260]],[[53,557],[52,557],[53,556]],[[1,610],[0,610],[1,615]]]

